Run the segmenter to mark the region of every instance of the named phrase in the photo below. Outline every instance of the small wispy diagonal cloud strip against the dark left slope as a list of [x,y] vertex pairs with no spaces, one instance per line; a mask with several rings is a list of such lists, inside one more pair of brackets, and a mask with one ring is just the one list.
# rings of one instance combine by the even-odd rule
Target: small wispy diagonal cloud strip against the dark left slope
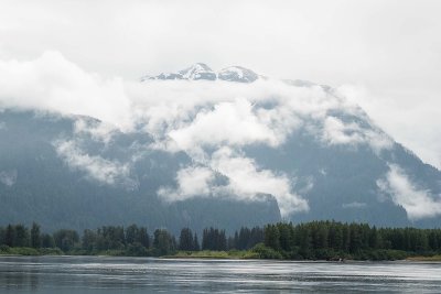
[[[92,179],[103,184],[126,184],[130,175],[128,163],[110,161],[97,155],[89,155],[79,149],[74,141],[54,142],[55,150],[69,167],[85,172]],[[132,183],[131,183],[132,184]]]

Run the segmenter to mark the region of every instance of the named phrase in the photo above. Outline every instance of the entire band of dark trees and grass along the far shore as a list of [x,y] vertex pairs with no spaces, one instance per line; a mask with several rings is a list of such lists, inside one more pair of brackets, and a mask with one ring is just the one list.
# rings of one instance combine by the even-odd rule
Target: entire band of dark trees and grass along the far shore
[[169,259],[272,259],[295,261],[441,262],[441,229],[376,228],[366,224],[312,221],[241,228],[234,235],[183,228],[179,238],[165,229],[104,226],[41,232],[37,224],[0,227],[0,255],[110,255]]

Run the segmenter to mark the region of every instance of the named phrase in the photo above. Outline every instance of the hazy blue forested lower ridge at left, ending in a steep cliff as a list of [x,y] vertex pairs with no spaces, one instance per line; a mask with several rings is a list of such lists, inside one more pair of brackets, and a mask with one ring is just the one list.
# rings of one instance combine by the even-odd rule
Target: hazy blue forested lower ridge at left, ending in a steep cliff
[[[57,140],[78,137],[74,134],[77,119],[34,112],[0,112],[0,120],[6,126],[0,130],[2,225],[37,221],[52,230],[137,222],[151,229],[166,227],[178,231],[183,226],[197,230],[205,226],[222,226],[233,230],[243,225],[280,219],[275,200],[189,199],[168,204],[158,198],[157,189],[161,185],[172,185],[180,164],[189,161],[183,153],[151,152],[137,161],[130,181],[97,182],[87,171],[69,167],[56,152]],[[108,160],[125,161],[136,153],[137,144],[149,140],[146,135],[119,133],[106,146],[87,135],[77,141],[82,141],[82,148],[90,156],[99,153]],[[98,172],[104,173],[106,165],[101,167],[104,170]]]

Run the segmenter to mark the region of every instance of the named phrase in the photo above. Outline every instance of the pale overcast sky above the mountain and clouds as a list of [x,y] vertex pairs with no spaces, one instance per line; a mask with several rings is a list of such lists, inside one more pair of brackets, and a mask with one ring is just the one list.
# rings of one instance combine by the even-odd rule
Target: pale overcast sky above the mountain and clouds
[[441,1],[6,1],[0,59],[139,79],[195,62],[340,88],[441,167]]

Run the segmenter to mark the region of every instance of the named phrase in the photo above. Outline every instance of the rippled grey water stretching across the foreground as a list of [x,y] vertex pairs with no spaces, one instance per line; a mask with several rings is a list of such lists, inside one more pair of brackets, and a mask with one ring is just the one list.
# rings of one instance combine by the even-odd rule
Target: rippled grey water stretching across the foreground
[[441,293],[441,263],[0,257],[0,293]]

